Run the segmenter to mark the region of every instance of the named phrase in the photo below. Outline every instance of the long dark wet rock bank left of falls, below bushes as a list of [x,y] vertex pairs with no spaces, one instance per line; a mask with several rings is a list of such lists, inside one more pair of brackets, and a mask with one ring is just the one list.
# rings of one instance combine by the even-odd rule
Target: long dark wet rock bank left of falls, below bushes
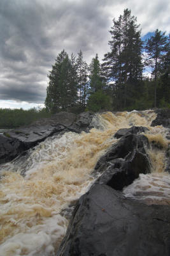
[[51,118],[42,118],[26,127],[20,127],[0,134],[0,164],[11,161],[18,154],[36,146],[53,134],[59,132],[88,131],[93,114],[81,113],[76,116],[73,113],[60,112]]

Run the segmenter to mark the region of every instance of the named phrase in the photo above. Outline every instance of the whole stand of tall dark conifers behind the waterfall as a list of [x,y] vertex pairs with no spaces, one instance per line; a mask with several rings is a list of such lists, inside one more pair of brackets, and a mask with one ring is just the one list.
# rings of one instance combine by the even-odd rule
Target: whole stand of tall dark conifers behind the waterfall
[[[146,42],[131,10],[124,10],[110,29],[110,52],[103,63],[98,56],[90,65],[83,53],[59,53],[48,74],[45,106],[55,113],[169,108],[170,35],[156,29]],[[150,76],[145,76],[148,68]]]

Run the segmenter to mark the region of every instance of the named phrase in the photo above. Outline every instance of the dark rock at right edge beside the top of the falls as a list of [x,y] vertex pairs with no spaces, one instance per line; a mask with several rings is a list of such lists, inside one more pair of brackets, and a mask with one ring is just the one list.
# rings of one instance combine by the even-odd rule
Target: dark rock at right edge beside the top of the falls
[[152,121],[151,126],[162,125],[170,128],[170,109],[156,109],[157,118]]

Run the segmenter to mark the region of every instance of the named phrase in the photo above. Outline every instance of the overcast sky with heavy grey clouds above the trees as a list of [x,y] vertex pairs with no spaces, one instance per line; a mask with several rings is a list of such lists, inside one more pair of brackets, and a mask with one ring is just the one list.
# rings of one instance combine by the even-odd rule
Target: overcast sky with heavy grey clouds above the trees
[[0,108],[41,107],[62,49],[92,58],[110,51],[108,32],[125,8],[146,38],[170,31],[169,0],[0,0]]

